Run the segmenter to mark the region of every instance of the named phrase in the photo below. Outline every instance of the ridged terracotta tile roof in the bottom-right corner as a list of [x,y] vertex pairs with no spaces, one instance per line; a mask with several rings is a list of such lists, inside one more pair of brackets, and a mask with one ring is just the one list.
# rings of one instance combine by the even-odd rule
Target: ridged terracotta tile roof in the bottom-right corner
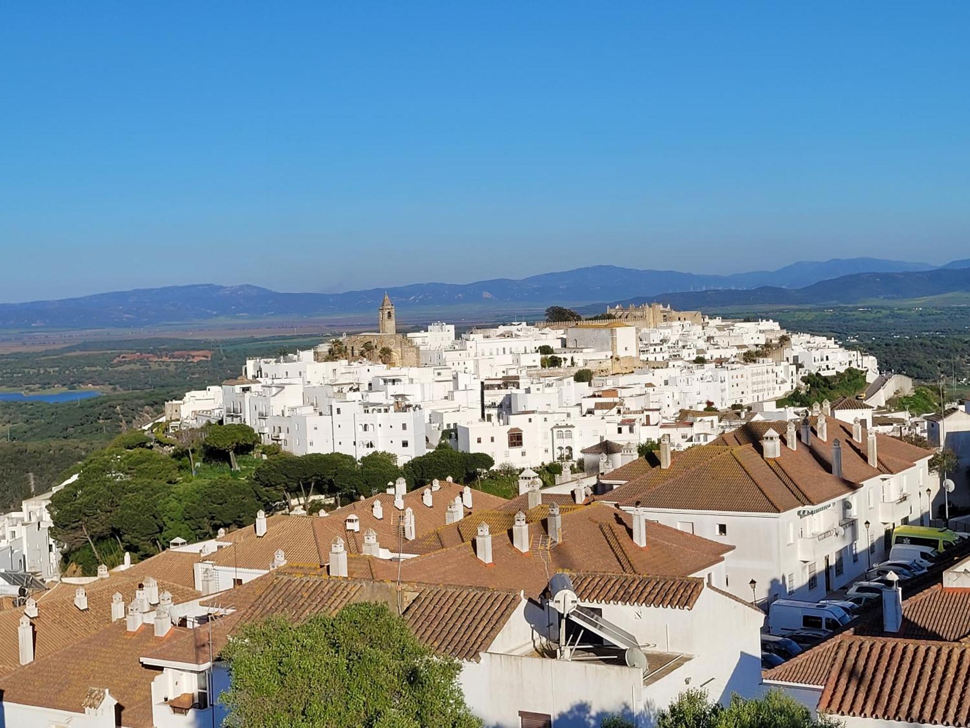
[[925,725],[970,725],[970,645],[842,640],[820,712]]

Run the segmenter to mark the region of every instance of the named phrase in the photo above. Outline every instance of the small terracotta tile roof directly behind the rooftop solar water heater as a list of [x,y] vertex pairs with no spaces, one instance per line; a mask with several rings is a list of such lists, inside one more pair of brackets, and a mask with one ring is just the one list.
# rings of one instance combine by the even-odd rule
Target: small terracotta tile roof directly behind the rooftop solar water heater
[[704,590],[704,580],[616,574],[573,574],[572,588],[584,602],[635,604],[690,610]]

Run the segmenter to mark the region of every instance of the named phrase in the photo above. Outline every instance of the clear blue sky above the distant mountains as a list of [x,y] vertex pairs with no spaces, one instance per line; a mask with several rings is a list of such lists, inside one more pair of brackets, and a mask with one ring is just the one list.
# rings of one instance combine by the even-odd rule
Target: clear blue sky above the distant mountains
[[970,3],[7,3],[0,301],[970,255]]

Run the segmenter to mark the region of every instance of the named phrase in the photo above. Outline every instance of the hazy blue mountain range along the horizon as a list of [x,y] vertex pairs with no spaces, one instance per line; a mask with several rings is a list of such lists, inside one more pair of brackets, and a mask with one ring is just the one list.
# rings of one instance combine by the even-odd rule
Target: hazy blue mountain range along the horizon
[[[414,283],[345,293],[280,293],[255,285],[178,285],[56,301],[0,304],[0,329],[142,327],[211,319],[309,317],[376,311],[386,290],[399,310],[535,312],[558,304],[662,300],[703,309],[759,303],[851,303],[970,290],[970,260],[942,268],[878,258],[792,263],[776,271],[709,276],[598,265],[521,280]],[[681,291],[671,293],[669,291]]]

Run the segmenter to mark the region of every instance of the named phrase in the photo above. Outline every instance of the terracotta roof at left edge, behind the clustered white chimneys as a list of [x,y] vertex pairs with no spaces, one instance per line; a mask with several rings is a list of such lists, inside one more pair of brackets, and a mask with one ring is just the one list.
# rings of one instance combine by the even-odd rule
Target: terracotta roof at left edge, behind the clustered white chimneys
[[[87,609],[83,612],[74,606],[74,595],[78,588],[75,584],[61,582],[45,592],[38,599],[37,616],[31,620],[35,630],[35,659],[43,659],[68,645],[74,645],[111,624],[114,592],[120,592],[125,604],[128,604],[135,596],[139,582],[145,578],[126,576],[122,572],[112,574],[108,579],[84,584]],[[158,590],[170,591],[175,604],[199,597],[195,589],[160,579]],[[19,667],[17,626],[22,615],[22,610],[0,612],[0,675],[8,675]]]

